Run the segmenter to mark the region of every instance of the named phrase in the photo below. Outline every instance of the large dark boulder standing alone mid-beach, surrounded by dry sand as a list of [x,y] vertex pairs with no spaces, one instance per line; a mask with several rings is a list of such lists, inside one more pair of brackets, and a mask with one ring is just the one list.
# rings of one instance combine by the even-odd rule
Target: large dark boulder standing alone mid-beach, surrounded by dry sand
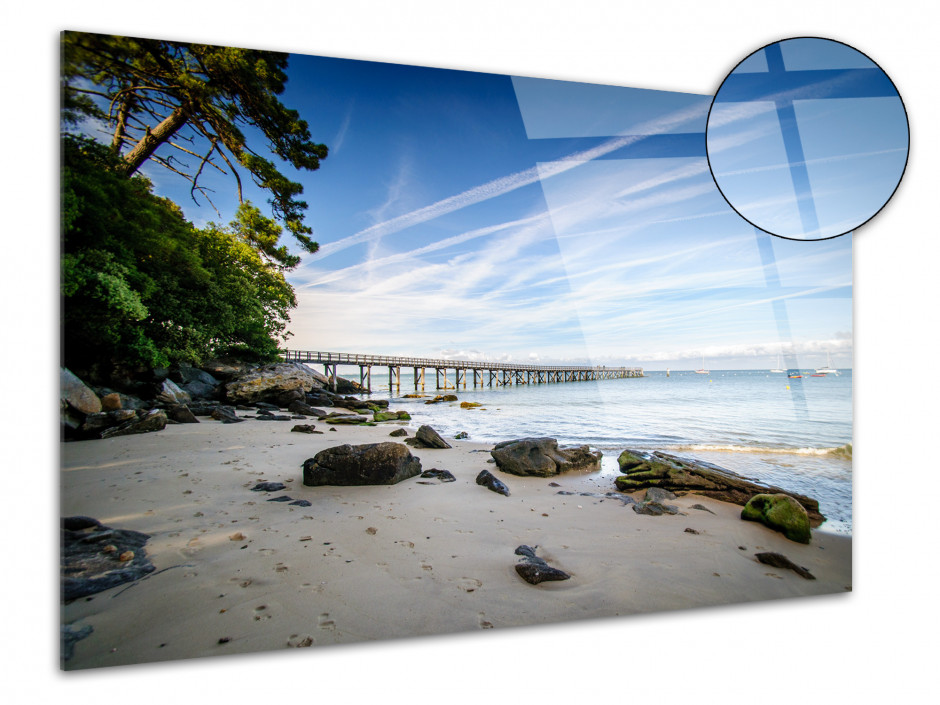
[[393,485],[421,472],[421,461],[401,443],[344,444],[320,451],[303,464],[304,484]]

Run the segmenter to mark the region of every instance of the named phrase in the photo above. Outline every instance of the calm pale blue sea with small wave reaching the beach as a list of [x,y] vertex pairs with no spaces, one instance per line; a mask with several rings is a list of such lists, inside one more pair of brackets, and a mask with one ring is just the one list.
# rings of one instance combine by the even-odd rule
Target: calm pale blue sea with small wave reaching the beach
[[[550,436],[560,445],[587,444],[603,453],[601,474],[620,474],[626,448],[660,450],[706,461],[739,475],[814,497],[827,521],[823,531],[852,532],[852,371],[802,377],[763,370],[650,371],[644,377],[560,384],[436,389],[434,373],[423,393],[457,394],[461,402],[425,404],[411,374],[389,388],[381,368],[373,397],[404,408],[414,424],[427,423],[445,439],[497,443]],[[340,373],[342,374],[342,373]],[[796,374],[791,371],[790,374]],[[421,392],[421,390],[418,390]]]

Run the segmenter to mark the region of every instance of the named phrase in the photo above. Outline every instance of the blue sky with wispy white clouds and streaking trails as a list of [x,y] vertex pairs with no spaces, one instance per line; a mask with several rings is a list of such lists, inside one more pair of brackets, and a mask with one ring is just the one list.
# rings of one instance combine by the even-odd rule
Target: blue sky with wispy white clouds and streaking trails
[[[283,102],[331,150],[294,177],[321,249],[288,277],[289,347],[851,366],[851,237],[773,238],[729,208],[709,96],[296,55],[288,75]],[[224,177],[220,218],[146,173],[197,224],[234,212]]]

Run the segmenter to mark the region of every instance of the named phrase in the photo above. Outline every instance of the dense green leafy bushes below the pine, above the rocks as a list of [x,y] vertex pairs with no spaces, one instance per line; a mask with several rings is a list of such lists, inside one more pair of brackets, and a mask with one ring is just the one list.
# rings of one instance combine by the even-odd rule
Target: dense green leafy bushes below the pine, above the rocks
[[197,229],[119,157],[63,139],[62,327],[65,364],[163,366],[241,352],[277,356],[293,289],[270,256],[280,227],[243,204]]

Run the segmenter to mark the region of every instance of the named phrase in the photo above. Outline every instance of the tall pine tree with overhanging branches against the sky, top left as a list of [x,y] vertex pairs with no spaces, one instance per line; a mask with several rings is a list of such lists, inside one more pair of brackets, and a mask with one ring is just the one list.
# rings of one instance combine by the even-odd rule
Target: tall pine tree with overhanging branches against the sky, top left
[[[62,121],[78,125],[89,117],[106,124],[119,157],[110,168],[130,176],[150,159],[186,178],[194,197],[208,200],[199,178],[217,169],[232,174],[241,203],[241,167],[271,194],[275,219],[305,251],[316,252],[304,224],[307,204],[298,199],[303,187],[247,145],[242,132],[259,130],[272,155],[295,169],[319,168],[326,146],[314,143],[307,123],[278,100],[286,68],[287,55],[279,52],[64,32]],[[296,266],[299,259],[271,240],[273,231],[262,230],[253,244],[281,265]]]

